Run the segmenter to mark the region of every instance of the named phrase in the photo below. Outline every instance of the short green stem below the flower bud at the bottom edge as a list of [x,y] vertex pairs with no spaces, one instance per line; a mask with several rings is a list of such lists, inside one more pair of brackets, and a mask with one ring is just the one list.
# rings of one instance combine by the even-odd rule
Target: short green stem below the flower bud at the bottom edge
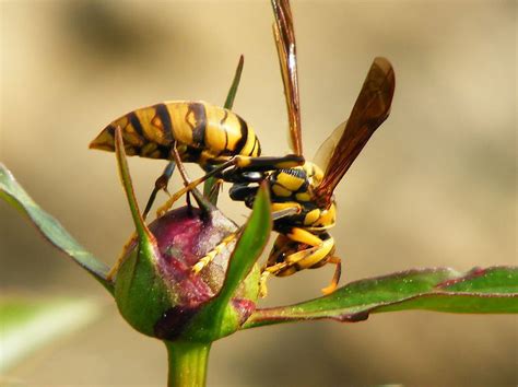
[[168,387],[203,387],[211,343],[165,341],[168,354]]

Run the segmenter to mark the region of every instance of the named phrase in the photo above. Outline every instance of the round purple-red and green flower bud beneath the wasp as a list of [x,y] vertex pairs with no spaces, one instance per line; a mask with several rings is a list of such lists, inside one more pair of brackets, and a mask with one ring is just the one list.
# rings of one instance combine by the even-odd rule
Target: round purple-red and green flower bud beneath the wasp
[[[237,227],[220,211],[205,213],[184,207],[158,218],[149,228],[156,244],[130,243],[116,273],[117,305],[140,332],[181,339],[200,308],[220,291]],[[210,260],[200,266],[207,257]],[[249,278],[251,285],[245,281],[232,303],[240,322],[248,318],[257,300],[258,272]]]

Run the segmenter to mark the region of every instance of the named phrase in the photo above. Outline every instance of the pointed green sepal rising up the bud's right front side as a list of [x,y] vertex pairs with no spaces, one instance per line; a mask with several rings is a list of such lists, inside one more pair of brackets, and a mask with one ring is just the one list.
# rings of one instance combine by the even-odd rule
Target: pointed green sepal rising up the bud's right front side
[[[267,186],[259,189],[254,209],[232,254],[225,281],[220,293],[196,316],[190,331],[207,331],[207,340],[213,341],[235,331],[239,327],[238,316],[233,314],[231,300],[240,283],[251,271],[261,255],[272,230],[270,198]],[[258,279],[255,279],[257,283]],[[256,288],[256,297],[258,289]]]

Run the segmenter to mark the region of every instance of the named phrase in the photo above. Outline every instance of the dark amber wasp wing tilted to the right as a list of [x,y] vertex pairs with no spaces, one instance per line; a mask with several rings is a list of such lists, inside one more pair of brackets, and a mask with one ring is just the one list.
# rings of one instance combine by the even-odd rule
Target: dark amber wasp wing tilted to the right
[[[395,85],[396,79],[390,62],[385,58],[375,58],[342,136],[327,163],[323,179],[316,190],[317,197],[323,203],[331,202],[332,192],[343,175],[370,136],[387,119]],[[337,130],[339,129],[340,127]]]

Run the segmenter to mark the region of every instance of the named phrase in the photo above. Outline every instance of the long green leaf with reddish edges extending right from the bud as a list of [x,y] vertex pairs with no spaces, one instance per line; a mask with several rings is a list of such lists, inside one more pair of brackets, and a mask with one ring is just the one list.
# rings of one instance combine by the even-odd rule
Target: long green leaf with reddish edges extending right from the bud
[[360,280],[316,300],[258,309],[245,328],[322,318],[360,321],[372,313],[409,309],[518,313],[518,267],[476,268],[464,274],[422,269]]

